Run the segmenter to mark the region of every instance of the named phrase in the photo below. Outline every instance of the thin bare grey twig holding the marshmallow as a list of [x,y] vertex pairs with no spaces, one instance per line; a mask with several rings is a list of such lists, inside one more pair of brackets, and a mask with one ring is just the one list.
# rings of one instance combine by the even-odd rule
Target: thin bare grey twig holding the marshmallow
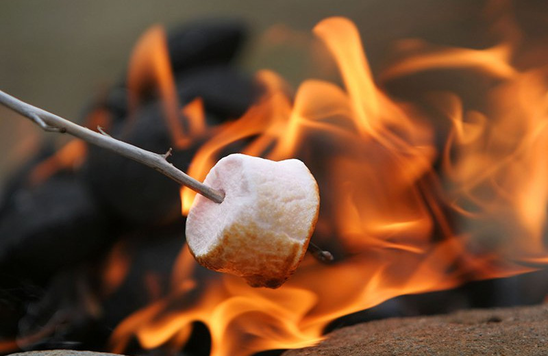
[[175,168],[171,163],[166,161],[166,158],[171,154],[171,149],[167,153],[160,155],[150,151],[145,151],[132,144],[116,140],[110,137],[102,129],[99,132],[92,131],[87,127],[82,127],[72,123],[51,112],[40,109],[39,107],[27,104],[19,99],[12,97],[9,94],[0,90],[0,103],[10,109],[18,112],[19,114],[30,118],[36,125],[40,126],[44,131],[69,133],[72,136],[80,138],[90,144],[95,144],[104,149],[109,149],[123,155],[124,157],[131,158],[139,163],[145,164],[158,172],[166,175],[183,186],[195,190],[199,194],[206,196],[215,203],[221,203],[225,198],[223,192],[214,190],[213,188],[206,186],[205,184],[197,181],[196,179],[186,175],[181,170]]

